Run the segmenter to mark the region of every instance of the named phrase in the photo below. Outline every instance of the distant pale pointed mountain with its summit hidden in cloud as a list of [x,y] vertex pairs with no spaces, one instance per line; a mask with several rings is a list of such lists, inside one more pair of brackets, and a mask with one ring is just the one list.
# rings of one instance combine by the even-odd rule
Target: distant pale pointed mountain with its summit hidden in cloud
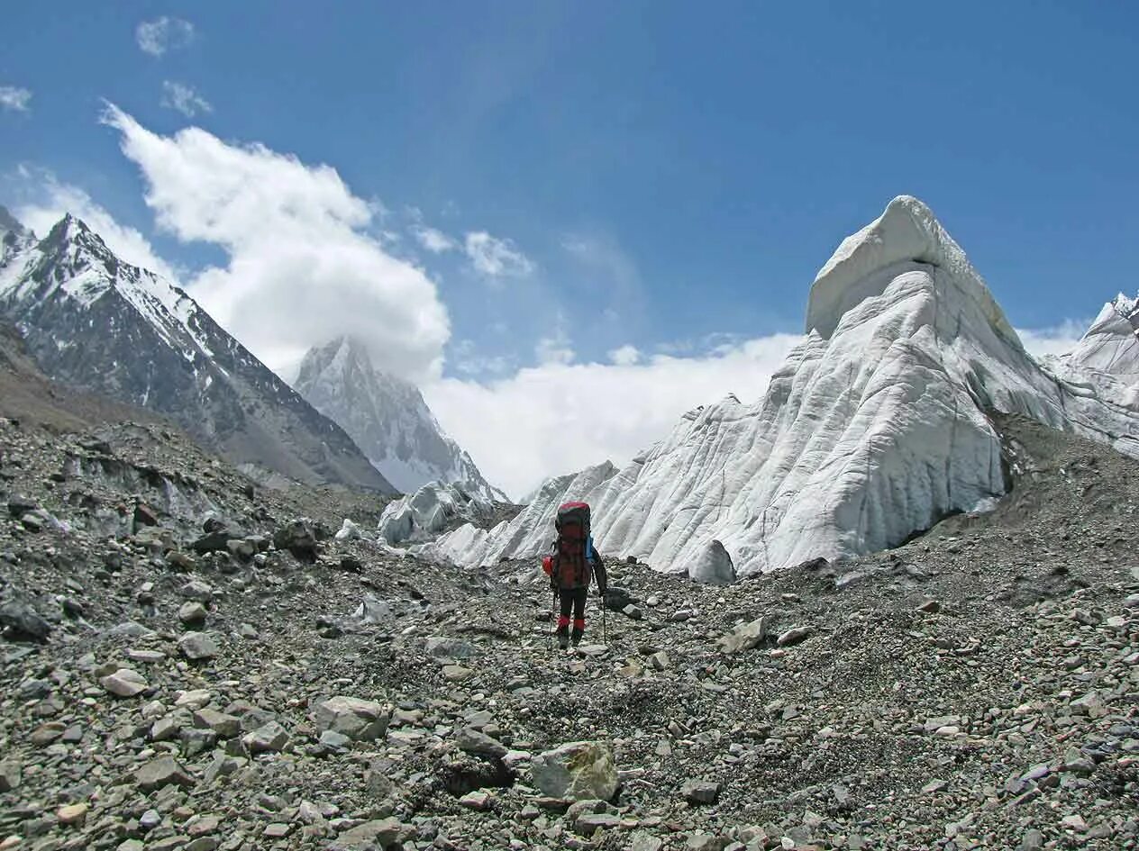
[[310,349],[294,386],[338,422],[402,493],[442,481],[485,499],[507,501],[443,432],[419,388],[377,370],[361,341],[338,337]]

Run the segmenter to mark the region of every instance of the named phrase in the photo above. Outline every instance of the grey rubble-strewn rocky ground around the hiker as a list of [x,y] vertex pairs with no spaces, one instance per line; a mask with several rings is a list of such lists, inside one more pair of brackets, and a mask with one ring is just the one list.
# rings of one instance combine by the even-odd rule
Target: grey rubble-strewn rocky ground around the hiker
[[0,849],[1139,848],[1139,464],[1001,426],[994,512],[724,588],[608,554],[566,654],[533,565],[0,421]]

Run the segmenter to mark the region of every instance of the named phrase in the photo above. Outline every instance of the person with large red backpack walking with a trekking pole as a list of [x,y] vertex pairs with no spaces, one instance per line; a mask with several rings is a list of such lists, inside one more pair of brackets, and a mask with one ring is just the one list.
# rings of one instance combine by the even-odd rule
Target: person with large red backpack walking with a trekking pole
[[[558,537],[550,545],[550,554],[542,559],[542,570],[550,578],[550,588],[559,597],[558,646],[565,650],[581,643],[585,631],[585,596],[589,585],[597,577],[597,592],[605,597],[607,580],[605,564],[589,534],[589,505],[565,503],[558,507],[555,528]],[[573,610],[573,634],[570,634],[570,612]]]

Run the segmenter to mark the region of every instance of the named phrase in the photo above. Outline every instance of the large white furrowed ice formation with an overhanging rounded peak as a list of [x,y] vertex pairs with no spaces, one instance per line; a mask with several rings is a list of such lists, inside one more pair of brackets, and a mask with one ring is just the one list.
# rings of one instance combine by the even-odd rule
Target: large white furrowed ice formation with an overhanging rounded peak
[[[721,545],[738,576],[874,552],[1006,491],[990,410],[1139,457],[1139,407],[1065,379],[1024,350],[961,248],[903,196],[819,272],[806,336],[762,400],[689,412],[574,496],[593,506],[604,553],[670,572],[724,563]],[[431,546],[460,564],[534,556],[557,490],[514,524]]]

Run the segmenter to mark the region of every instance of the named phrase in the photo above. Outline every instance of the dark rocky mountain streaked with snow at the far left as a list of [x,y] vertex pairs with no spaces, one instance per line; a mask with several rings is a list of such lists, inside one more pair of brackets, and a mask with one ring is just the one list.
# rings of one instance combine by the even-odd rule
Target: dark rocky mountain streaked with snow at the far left
[[36,240],[2,210],[0,240],[0,317],[51,378],[167,415],[237,463],[394,490],[192,298],[118,259],[83,222],[67,215]]

